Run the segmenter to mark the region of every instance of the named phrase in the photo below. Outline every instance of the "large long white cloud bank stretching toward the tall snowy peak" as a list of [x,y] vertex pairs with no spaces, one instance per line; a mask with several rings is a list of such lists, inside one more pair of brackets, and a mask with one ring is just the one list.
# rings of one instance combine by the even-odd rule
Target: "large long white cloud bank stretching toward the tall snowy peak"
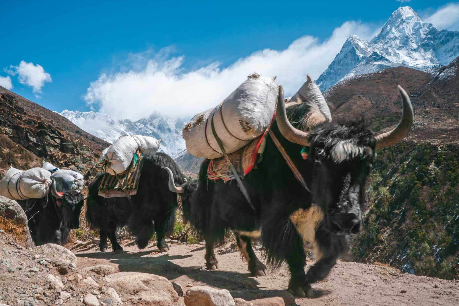
[[[276,82],[291,95],[305,81],[306,74],[318,78],[351,34],[370,39],[374,29],[360,22],[345,22],[329,39],[319,42],[303,36],[285,50],[259,50],[241,58],[228,67],[218,62],[185,71],[185,56],[171,57],[168,50],[146,59],[130,56],[131,70],[102,74],[90,84],[84,100],[92,109],[114,118],[137,120],[153,111],[170,116],[192,116],[218,105],[245,78],[258,72],[277,76]],[[140,67],[138,63],[141,63]]]

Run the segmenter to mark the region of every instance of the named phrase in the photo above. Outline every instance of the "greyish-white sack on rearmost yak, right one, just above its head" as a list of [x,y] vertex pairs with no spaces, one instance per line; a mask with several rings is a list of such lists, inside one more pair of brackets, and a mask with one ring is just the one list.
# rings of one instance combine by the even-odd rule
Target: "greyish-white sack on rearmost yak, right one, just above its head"
[[51,179],[56,182],[56,189],[59,191],[78,191],[83,190],[83,174],[70,170],[59,169],[48,161],[43,161],[43,169],[51,173]]

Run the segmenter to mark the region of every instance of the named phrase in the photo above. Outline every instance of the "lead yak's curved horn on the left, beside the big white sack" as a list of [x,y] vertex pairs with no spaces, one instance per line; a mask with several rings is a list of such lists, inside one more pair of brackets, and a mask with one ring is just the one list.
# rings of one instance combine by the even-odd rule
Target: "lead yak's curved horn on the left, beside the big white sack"
[[288,121],[287,113],[285,112],[285,101],[284,101],[284,88],[279,85],[279,96],[277,98],[277,110],[276,110],[276,122],[279,128],[280,134],[287,140],[296,143],[298,145],[309,146],[308,138],[309,133],[303,132],[297,128],[294,128],[290,121]]

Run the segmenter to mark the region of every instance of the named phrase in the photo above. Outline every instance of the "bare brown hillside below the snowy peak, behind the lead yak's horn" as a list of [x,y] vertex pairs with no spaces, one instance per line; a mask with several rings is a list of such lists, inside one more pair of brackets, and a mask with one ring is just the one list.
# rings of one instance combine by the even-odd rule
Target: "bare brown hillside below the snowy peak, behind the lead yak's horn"
[[[459,59],[431,74],[406,67],[388,68],[337,83],[324,92],[334,119],[364,115],[375,131],[397,124],[401,100],[397,85],[410,95],[414,126],[408,139],[416,142],[459,142]],[[445,78],[445,71],[450,76]],[[442,74],[442,72],[444,72]],[[441,78],[443,77],[443,78]]]

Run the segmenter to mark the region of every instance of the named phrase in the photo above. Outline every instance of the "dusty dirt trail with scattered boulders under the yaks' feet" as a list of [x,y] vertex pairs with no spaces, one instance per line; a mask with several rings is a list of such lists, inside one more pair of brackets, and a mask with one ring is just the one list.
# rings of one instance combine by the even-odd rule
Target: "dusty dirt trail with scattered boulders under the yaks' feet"
[[313,285],[312,298],[294,298],[285,291],[285,267],[250,277],[234,243],[216,249],[220,269],[207,271],[203,245],[174,242],[168,253],[154,245],[139,250],[131,241],[123,241],[124,254],[101,253],[97,241],[67,245],[70,252],[56,245],[28,248],[0,233],[0,305],[431,306],[459,300],[459,281],[354,262],[338,262]]

